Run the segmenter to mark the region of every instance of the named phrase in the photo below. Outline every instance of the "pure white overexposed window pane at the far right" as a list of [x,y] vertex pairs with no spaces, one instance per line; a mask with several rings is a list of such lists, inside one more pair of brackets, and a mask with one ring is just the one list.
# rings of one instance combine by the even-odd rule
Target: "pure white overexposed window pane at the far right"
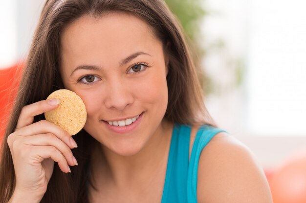
[[253,0],[249,29],[249,127],[306,135],[306,3]]

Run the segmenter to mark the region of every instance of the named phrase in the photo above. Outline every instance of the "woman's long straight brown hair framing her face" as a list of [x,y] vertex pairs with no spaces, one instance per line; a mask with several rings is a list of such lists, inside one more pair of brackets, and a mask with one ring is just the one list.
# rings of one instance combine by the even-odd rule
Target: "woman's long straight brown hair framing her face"
[[[186,42],[175,17],[162,0],[46,0],[25,62],[16,104],[2,143],[0,163],[0,203],[6,203],[15,187],[15,173],[7,137],[14,132],[22,107],[44,100],[64,88],[59,74],[60,36],[72,21],[84,15],[101,17],[106,12],[127,12],[146,21],[160,39],[169,57],[167,75],[169,100],[165,119],[180,124],[210,124],[202,90]],[[168,44],[168,46],[167,46]],[[34,122],[44,119],[36,116]],[[78,148],[73,154],[79,166],[69,174],[57,165],[42,203],[86,203],[88,145],[94,142],[85,130],[74,136]]]

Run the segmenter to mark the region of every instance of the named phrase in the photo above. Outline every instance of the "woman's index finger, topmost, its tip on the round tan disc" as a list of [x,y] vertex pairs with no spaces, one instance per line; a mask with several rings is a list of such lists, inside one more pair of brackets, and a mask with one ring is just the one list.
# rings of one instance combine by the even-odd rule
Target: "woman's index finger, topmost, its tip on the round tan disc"
[[59,103],[60,101],[58,99],[47,99],[24,106],[19,116],[16,129],[32,124],[34,116],[56,109]]

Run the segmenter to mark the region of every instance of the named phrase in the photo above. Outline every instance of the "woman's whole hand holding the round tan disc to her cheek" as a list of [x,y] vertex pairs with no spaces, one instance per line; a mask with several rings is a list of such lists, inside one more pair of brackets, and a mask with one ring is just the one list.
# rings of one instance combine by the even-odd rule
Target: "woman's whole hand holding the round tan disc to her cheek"
[[48,99],[23,107],[16,130],[7,139],[16,174],[16,194],[42,198],[54,162],[65,173],[71,172],[68,165],[77,165],[71,152],[77,145],[64,129],[46,120],[33,123],[34,116],[56,109],[58,104],[59,100]]

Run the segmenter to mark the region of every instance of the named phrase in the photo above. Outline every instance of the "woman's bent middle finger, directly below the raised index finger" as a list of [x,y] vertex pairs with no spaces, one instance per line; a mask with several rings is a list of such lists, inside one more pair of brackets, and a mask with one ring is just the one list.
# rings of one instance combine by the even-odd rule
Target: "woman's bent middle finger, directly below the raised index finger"
[[29,126],[23,127],[22,129],[17,129],[14,132],[14,134],[17,134],[20,136],[32,136],[32,135],[44,134],[44,133],[54,134],[57,138],[62,140],[70,148],[78,147],[76,142],[73,140],[71,135],[66,130],[46,120],[41,120]]

